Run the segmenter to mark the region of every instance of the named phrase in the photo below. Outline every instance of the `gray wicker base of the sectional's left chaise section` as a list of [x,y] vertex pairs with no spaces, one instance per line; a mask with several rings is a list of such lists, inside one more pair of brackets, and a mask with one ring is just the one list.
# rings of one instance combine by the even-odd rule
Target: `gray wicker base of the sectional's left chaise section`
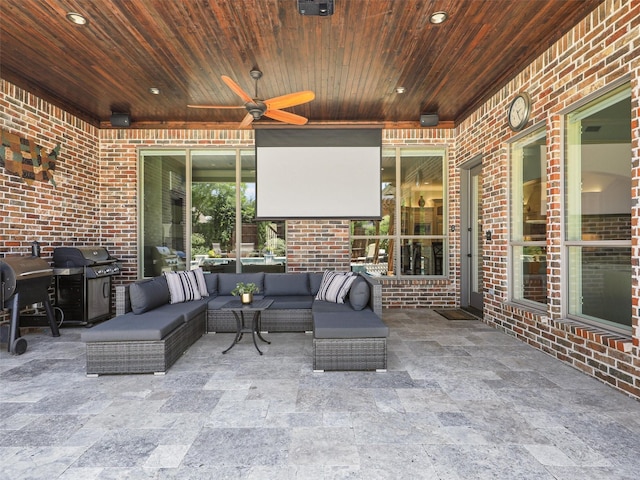
[[203,312],[162,340],[87,343],[87,375],[164,374],[204,334],[205,320]]

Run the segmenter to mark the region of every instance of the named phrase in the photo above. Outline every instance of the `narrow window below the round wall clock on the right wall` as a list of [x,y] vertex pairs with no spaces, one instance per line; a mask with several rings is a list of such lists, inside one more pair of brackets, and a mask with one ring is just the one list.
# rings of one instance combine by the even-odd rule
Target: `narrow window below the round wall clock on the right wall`
[[[511,298],[547,303],[547,156],[544,130],[511,145]],[[534,305],[535,306],[535,305]]]

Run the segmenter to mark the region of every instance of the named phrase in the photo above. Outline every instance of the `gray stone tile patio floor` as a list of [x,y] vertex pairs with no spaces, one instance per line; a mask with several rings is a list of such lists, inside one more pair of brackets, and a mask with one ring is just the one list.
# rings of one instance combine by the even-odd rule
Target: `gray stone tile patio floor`
[[[0,479],[637,479],[640,402],[476,320],[387,310],[387,373],[205,335],[87,378],[79,328],[0,353]],[[3,345],[5,347],[5,345]]]

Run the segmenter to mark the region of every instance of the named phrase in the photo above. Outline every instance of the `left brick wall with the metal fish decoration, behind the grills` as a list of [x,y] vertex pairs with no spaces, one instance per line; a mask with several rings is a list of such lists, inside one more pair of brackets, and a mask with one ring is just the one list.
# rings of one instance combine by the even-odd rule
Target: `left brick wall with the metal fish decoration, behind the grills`
[[[26,182],[0,168],[0,254],[30,255],[41,244],[50,261],[61,245],[100,242],[100,153],[97,130],[0,79],[0,128],[50,152],[60,145],[54,186]],[[50,291],[52,295],[53,290]],[[8,311],[0,311],[0,321]]]

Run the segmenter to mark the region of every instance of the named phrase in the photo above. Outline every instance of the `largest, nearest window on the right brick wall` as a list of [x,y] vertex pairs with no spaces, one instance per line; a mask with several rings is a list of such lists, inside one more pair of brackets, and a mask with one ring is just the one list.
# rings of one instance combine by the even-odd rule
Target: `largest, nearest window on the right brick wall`
[[631,329],[631,91],[567,115],[565,272],[568,314]]

